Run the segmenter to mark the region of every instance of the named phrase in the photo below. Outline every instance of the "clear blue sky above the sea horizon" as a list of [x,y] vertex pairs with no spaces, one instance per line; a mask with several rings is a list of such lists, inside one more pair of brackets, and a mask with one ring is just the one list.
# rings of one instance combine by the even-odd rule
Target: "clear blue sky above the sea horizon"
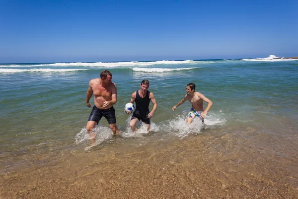
[[297,0],[0,0],[0,63],[298,56]]

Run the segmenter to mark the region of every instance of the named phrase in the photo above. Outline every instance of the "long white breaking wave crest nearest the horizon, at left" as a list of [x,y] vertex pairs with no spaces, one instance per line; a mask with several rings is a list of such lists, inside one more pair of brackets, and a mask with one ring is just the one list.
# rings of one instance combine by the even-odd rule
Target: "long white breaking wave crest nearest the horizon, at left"
[[160,64],[198,64],[198,63],[209,63],[209,62],[201,62],[201,61],[193,61],[193,60],[184,60],[184,61],[151,61],[151,62],[72,62],[72,63],[53,63],[53,64],[37,64],[37,65],[0,65],[0,67],[43,67],[43,66],[59,66],[59,67],[74,67],[74,66],[82,66],[82,67],[107,67],[114,68],[119,66],[151,66],[151,65],[160,65]]

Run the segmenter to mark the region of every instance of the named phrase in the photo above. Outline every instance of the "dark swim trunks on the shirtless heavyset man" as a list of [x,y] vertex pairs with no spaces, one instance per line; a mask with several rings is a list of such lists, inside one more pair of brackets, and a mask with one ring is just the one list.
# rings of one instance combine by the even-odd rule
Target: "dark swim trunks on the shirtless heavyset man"
[[96,121],[98,124],[102,116],[107,119],[109,124],[116,124],[116,115],[113,106],[108,109],[99,109],[94,105],[88,121]]

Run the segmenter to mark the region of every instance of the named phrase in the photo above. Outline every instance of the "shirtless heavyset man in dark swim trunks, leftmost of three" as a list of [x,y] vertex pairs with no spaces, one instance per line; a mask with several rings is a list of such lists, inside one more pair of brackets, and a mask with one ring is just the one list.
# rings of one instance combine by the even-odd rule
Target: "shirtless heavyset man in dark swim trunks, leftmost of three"
[[91,146],[95,144],[95,135],[92,129],[95,128],[102,116],[107,119],[113,134],[119,133],[116,124],[115,109],[113,107],[117,102],[117,88],[116,84],[112,82],[112,74],[108,70],[102,71],[100,78],[90,80],[86,98],[86,105],[88,107],[91,107],[89,100],[93,94],[95,105],[92,108],[86,126],[90,136]]

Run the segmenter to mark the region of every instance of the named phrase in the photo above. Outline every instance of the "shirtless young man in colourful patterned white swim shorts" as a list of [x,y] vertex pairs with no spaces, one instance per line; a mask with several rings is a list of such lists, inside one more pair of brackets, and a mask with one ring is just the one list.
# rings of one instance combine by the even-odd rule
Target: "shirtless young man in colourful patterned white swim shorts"
[[[186,86],[187,94],[184,96],[184,99],[179,101],[175,106],[172,107],[172,110],[174,111],[178,105],[181,105],[186,100],[190,101],[192,106],[190,112],[188,113],[186,123],[191,123],[196,116],[199,116],[202,122],[204,122],[204,118],[207,115],[207,111],[211,108],[213,104],[212,101],[206,98],[203,94],[195,92],[195,89],[196,85],[194,83],[189,83]],[[207,108],[205,110],[203,106],[203,100],[208,103]]]

